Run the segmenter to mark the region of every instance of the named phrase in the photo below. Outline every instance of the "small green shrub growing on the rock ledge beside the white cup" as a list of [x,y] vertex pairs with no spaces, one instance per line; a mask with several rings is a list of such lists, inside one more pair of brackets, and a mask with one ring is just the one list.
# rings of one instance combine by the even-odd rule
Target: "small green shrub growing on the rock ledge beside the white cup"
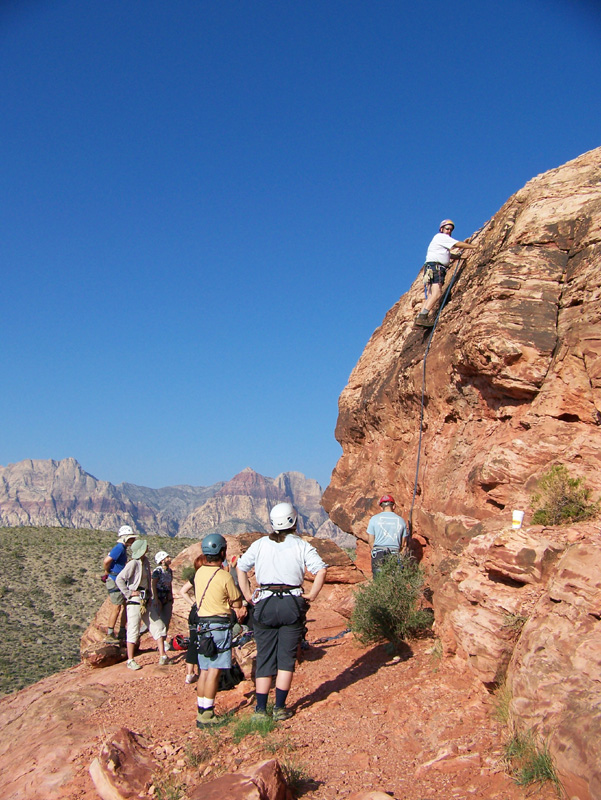
[[582,478],[571,478],[563,464],[556,464],[541,477],[533,495],[534,525],[568,525],[594,517],[598,503],[589,501],[590,490]]

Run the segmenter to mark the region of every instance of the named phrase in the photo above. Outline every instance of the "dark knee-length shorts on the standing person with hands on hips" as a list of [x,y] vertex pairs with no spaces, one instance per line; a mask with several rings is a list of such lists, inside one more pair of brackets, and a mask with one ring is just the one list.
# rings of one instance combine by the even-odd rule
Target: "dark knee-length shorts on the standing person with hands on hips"
[[305,631],[307,601],[284,594],[259,600],[254,608],[257,643],[257,678],[268,678],[279,669],[294,672],[296,653]]

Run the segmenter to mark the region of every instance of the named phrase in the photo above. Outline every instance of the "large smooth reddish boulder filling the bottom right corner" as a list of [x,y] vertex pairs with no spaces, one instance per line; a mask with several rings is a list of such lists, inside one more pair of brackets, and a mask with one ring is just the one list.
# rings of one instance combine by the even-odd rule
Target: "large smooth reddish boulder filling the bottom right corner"
[[601,537],[560,559],[508,671],[522,730],[547,742],[568,797],[601,797]]

